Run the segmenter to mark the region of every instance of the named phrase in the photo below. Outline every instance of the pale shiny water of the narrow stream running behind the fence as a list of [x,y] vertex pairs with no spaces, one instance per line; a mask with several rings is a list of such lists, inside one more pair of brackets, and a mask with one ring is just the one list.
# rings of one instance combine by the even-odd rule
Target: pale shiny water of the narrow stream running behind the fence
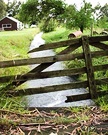
[[[34,37],[34,40],[31,42],[30,50],[33,48],[37,48],[40,45],[44,44],[45,41],[41,38],[43,33],[39,33]],[[34,52],[30,54],[30,57],[42,57],[42,56],[54,56],[55,53],[52,50],[45,50],[40,52]],[[31,69],[38,66],[37,64],[32,65]],[[61,62],[56,62],[50,67],[46,68],[44,71],[53,71],[64,69],[64,65]],[[57,84],[70,83],[74,81],[72,78],[68,76],[63,77],[54,77],[54,78],[46,78],[46,79],[37,79],[27,81],[28,88],[37,88],[44,86],[51,86]],[[77,102],[69,102],[65,103],[67,99],[66,96],[77,95],[86,93],[86,89],[69,89],[58,92],[50,92],[43,94],[34,94],[30,96],[26,96],[27,98],[27,106],[28,107],[69,107],[69,106],[90,106],[94,105],[92,100],[82,100]]]

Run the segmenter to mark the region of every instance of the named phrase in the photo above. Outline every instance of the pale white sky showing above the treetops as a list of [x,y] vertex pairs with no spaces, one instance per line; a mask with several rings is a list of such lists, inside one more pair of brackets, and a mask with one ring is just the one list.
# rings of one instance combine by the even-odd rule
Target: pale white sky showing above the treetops
[[[10,1],[13,1],[13,0],[10,0]],[[26,1],[26,0],[20,0],[20,1]],[[77,8],[80,8],[83,0],[64,0],[64,1],[67,4],[74,4],[75,3]],[[4,0],[4,2],[7,3],[7,0]],[[90,2],[93,5],[93,7],[96,6],[98,3],[100,3],[101,6],[104,6],[106,3],[108,4],[108,0],[86,0],[86,2]]]

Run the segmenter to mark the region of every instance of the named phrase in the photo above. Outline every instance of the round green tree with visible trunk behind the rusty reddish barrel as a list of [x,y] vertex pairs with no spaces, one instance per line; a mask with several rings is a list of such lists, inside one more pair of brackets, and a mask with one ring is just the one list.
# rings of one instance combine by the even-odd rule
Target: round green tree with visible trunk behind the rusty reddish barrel
[[83,6],[80,10],[75,8],[75,5],[71,5],[67,8],[66,25],[69,28],[80,28],[80,30],[83,32],[84,28],[90,27],[91,25],[93,20],[93,8],[92,5],[87,3],[85,0],[83,0]]

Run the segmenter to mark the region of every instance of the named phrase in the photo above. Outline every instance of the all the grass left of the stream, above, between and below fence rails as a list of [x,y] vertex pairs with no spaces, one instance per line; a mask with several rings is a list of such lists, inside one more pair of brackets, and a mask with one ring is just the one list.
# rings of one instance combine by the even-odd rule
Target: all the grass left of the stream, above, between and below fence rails
[[[39,29],[23,29],[21,31],[3,31],[0,32],[0,60],[13,60],[13,59],[23,59],[28,58],[29,46]],[[19,66],[12,68],[1,68],[0,75],[17,75],[24,74],[29,71],[28,66]],[[3,89],[7,84],[1,84],[0,89]],[[2,93],[2,92],[1,92]],[[21,97],[19,98],[8,98],[4,94],[0,94],[0,108],[3,109],[18,109],[24,107],[24,103],[21,102]]]

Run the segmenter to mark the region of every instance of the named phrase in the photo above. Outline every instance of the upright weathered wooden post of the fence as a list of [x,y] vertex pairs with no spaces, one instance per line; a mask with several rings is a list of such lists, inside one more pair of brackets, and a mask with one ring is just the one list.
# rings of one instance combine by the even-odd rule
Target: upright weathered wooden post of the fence
[[91,58],[91,52],[89,48],[89,40],[88,36],[82,37],[82,48],[84,52],[85,57],[85,66],[87,69],[87,79],[89,84],[89,92],[92,99],[97,98],[97,92],[96,92],[96,83],[94,78],[94,69],[92,66],[92,58]]

